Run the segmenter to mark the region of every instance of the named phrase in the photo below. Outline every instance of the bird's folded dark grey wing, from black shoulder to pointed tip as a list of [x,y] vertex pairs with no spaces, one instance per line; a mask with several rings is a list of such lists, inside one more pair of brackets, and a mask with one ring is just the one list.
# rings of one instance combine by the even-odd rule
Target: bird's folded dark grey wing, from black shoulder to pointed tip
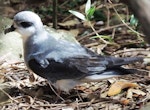
[[[60,79],[81,79],[93,74],[101,74],[105,71],[116,71],[119,74],[121,65],[141,61],[142,58],[114,58],[114,57],[85,57],[76,56],[57,62],[54,59],[46,59],[47,67],[41,66],[36,59],[29,61],[30,69],[36,74],[55,82]],[[123,72],[123,71],[121,71]]]

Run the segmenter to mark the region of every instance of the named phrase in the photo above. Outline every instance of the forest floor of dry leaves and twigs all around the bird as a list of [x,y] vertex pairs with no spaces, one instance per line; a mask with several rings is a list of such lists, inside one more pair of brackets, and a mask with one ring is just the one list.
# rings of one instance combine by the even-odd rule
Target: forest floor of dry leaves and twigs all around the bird
[[[24,4],[20,1],[17,5],[11,3],[5,7],[4,15],[12,18],[17,11],[30,9],[37,12],[44,24],[51,27],[52,6],[48,6],[50,3],[37,2],[41,4],[39,6],[28,4],[28,2]],[[73,5],[69,0],[59,3],[59,32],[65,31],[65,33],[73,34],[78,42],[101,55],[114,57],[146,57],[149,55],[150,48],[143,40],[144,35],[140,24],[136,22],[136,18],[132,18],[132,13],[129,12],[127,6],[118,2],[113,4],[100,0],[94,2],[97,14],[91,24],[96,32],[109,42],[105,44],[99,36],[95,37],[95,33],[87,22],[78,20],[71,13],[67,13],[68,10],[84,13],[85,3],[85,1],[75,2]],[[65,12],[66,14],[62,14]],[[136,110],[149,105],[149,64],[136,62],[124,67],[137,71],[123,77],[84,83],[76,86],[69,93],[58,93],[47,80],[29,72],[24,62],[8,63],[4,59],[0,60],[0,109]],[[112,85],[116,87],[115,92],[117,90],[120,92],[109,96],[108,92]],[[143,108],[143,110],[146,109]]]

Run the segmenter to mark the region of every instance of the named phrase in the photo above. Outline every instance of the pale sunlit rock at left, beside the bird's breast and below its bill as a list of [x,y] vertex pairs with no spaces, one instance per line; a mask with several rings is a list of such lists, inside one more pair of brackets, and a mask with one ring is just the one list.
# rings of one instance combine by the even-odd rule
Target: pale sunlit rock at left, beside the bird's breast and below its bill
[[4,29],[10,27],[12,20],[0,16],[0,61],[23,61],[22,39],[17,32],[4,34]]

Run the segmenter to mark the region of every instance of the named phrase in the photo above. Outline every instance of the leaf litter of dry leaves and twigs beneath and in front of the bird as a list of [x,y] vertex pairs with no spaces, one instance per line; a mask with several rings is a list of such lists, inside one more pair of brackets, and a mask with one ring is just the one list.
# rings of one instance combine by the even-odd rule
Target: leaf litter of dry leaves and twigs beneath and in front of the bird
[[[138,51],[136,52],[138,54]],[[136,65],[133,66],[136,68]],[[63,100],[51,90],[45,79],[29,72],[23,62],[1,63],[0,70],[0,95],[3,97],[0,98],[0,102],[1,109],[5,110],[135,109],[141,108],[150,100],[150,80],[146,70],[123,78],[78,85],[69,94],[65,92],[58,94]],[[110,95],[112,86],[119,87],[120,92]],[[116,88],[112,92],[115,92]],[[57,93],[57,90],[55,92]]]

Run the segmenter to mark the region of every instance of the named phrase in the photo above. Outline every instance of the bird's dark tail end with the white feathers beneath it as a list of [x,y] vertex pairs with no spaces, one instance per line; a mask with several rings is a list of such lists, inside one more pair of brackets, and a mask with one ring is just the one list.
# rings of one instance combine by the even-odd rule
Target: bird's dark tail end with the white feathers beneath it
[[[106,57],[107,58],[107,57]],[[130,57],[130,58],[110,58],[106,59],[109,60],[110,64],[107,67],[107,70],[102,71],[101,73],[97,73],[94,75],[90,75],[85,77],[82,81],[89,82],[89,81],[100,81],[103,79],[108,79],[112,77],[118,77],[127,74],[136,74],[141,73],[137,69],[125,69],[120,66],[134,63],[134,62],[142,62],[144,60],[143,57]]]

